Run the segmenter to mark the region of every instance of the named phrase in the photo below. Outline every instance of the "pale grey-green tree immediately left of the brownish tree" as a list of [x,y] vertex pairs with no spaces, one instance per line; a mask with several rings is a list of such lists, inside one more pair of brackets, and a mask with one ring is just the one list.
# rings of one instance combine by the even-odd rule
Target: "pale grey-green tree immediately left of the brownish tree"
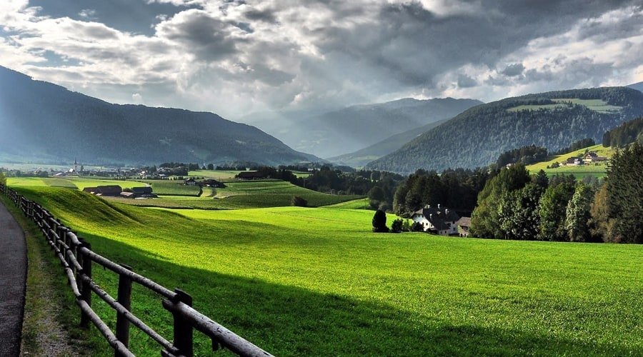
[[594,190],[592,187],[580,183],[574,191],[574,196],[567,203],[565,228],[569,240],[573,242],[591,241],[589,233],[589,208],[592,207]]

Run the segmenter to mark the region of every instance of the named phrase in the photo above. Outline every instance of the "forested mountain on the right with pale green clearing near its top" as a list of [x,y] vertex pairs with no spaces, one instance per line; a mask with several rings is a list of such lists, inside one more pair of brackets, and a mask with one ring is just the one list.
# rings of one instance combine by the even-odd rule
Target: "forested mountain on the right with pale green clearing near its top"
[[608,129],[641,115],[643,93],[626,87],[502,99],[464,111],[367,168],[408,173],[486,166],[525,145],[558,150],[584,138],[600,142]]

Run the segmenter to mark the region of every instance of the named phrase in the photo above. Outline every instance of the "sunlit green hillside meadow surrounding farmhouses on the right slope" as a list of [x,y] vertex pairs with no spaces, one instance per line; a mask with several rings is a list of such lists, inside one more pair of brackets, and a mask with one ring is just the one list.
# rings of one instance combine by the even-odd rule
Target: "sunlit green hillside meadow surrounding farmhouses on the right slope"
[[561,163],[569,157],[577,156],[578,154],[583,154],[585,150],[595,151],[599,156],[606,156],[607,158],[612,157],[614,150],[609,147],[604,147],[601,144],[588,146],[587,148],[579,149],[577,151],[572,151],[567,154],[551,156],[547,161],[542,161],[536,164],[527,166],[527,170],[530,173],[536,174],[541,169],[547,173],[547,175],[552,176],[555,174],[573,174],[576,178],[581,179],[584,176],[596,176],[602,178],[607,176],[607,162],[603,161],[596,164],[587,164],[583,166],[559,166],[556,169],[547,169],[547,166],[552,166],[555,162]]

